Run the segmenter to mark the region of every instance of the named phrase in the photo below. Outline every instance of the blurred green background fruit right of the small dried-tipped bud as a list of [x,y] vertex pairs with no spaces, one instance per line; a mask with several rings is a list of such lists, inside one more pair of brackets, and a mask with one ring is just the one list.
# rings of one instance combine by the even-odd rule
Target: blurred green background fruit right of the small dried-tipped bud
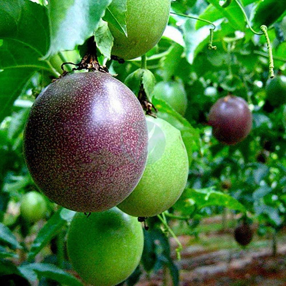
[[159,82],[154,87],[152,98],[168,103],[176,112],[184,116],[187,109],[187,95],[180,82]]

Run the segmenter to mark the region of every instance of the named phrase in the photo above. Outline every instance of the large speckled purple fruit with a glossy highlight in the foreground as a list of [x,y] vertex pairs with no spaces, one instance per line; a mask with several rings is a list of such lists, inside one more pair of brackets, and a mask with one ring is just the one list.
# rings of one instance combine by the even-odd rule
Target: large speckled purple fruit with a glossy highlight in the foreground
[[112,208],[140,180],[148,152],[142,107],[124,84],[100,72],[51,83],[31,108],[24,132],[29,171],[65,208]]

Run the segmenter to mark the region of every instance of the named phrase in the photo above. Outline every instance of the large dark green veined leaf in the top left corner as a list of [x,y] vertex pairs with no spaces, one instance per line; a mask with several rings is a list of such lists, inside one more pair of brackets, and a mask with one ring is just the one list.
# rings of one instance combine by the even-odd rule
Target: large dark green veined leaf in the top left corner
[[39,61],[49,48],[45,7],[31,1],[0,0],[0,19],[1,122],[36,71],[53,71],[47,61]]

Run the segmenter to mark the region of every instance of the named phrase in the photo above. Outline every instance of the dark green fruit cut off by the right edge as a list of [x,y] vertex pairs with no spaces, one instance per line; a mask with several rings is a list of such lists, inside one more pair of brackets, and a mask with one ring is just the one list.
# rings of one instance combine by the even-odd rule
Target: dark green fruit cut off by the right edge
[[270,80],[266,86],[266,95],[274,107],[286,103],[286,76],[276,76]]

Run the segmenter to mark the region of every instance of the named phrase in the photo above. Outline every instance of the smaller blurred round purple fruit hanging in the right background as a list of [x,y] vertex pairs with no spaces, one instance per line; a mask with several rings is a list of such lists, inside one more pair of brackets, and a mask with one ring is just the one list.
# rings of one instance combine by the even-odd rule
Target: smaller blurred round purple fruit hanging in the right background
[[211,107],[208,123],[212,134],[219,142],[236,144],[249,134],[252,128],[252,114],[247,102],[237,96],[220,98]]

